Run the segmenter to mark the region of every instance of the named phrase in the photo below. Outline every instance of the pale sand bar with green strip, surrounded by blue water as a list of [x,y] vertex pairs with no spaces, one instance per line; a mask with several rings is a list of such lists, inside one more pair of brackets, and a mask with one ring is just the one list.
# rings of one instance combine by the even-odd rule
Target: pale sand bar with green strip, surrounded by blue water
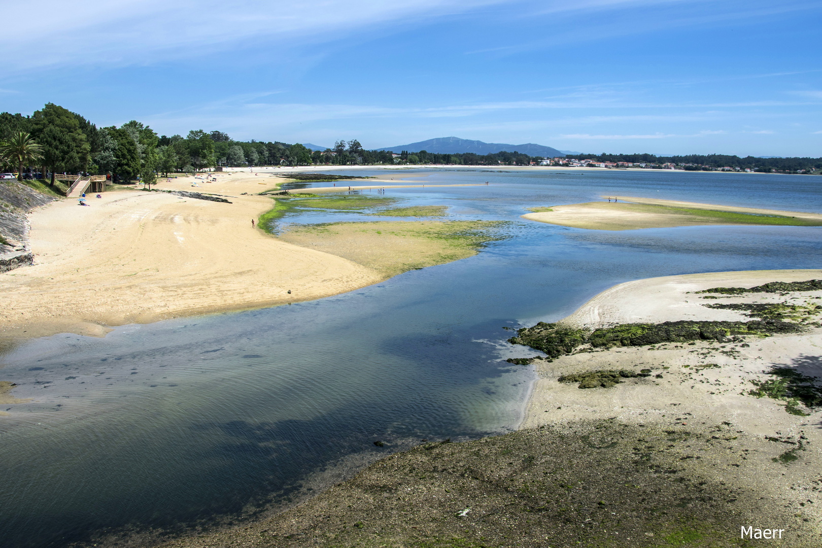
[[607,196],[603,198],[606,200],[556,205],[544,208],[544,210],[535,208],[543,211],[524,214],[522,217],[540,223],[593,230],[634,230],[706,224],[822,225],[822,214],[815,213],[653,200],[630,196],[616,196],[619,200],[617,202],[607,201]]

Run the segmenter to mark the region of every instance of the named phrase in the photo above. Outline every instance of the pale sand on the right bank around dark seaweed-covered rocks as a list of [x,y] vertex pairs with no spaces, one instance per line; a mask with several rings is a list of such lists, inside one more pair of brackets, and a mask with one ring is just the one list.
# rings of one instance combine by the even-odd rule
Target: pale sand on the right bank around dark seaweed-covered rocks
[[[815,303],[822,302],[822,291],[748,293],[708,300],[695,292],[820,278],[822,270],[759,270],[642,279],[607,289],[561,321],[586,329],[677,320],[746,321],[750,317],[740,311],[704,305],[755,301],[800,306],[807,303],[813,308]],[[816,325],[820,314],[822,311],[817,309]],[[756,398],[750,389],[754,387],[752,381],[768,380],[765,373],[774,366],[791,368],[802,375],[822,376],[820,352],[822,329],[809,326],[806,333],[746,337],[744,343],[665,343],[582,351],[553,361],[536,360],[538,380],[521,427],[572,425],[592,419],[669,429],[699,429],[721,423],[727,425],[734,440],[725,454],[730,460],[721,464],[725,481],[783,500],[818,523],[822,518],[822,500],[815,492],[814,481],[818,479],[822,458],[820,412],[797,416],[786,412],[783,400]],[[608,389],[580,389],[576,383],[557,381],[561,375],[582,371],[639,368],[647,368],[652,376],[626,379]],[[802,450],[796,463],[786,466],[776,462],[788,445],[797,447],[797,440]],[[744,452],[740,453],[742,448]],[[705,473],[713,467],[715,474],[718,462],[702,462],[700,467]],[[815,504],[805,506],[806,500]]]

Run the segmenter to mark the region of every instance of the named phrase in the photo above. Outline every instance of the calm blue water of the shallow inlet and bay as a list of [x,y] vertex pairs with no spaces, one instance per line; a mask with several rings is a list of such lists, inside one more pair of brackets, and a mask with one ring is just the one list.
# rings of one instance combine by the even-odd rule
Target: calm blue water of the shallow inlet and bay
[[[602,194],[822,212],[820,177],[363,174],[398,184],[408,176],[488,181],[389,188],[386,196],[450,205],[451,219],[511,221],[507,238],[478,256],[320,301],[7,349],[0,380],[35,402],[2,408],[9,414],[0,417],[0,546],[63,546],[105,527],[248,515],[352,455],[515,428],[533,374],[504,360],[533,351],[510,348],[503,326],[559,319],[630,279],[820,265],[819,228],[614,233],[519,219],[524,207]],[[318,212],[283,223],[375,219]]]

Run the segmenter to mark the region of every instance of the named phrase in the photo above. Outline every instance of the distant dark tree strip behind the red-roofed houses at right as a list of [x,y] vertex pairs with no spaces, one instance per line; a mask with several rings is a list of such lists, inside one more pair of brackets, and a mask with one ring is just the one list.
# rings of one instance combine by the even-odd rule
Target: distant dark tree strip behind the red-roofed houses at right
[[662,165],[683,164],[686,169],[740,168],[760,172],[797,173],[822,169],[822,158],[759,158],[757,156],[728,156],[726,154],[687,154],[684,156],[656,156],[654,154],[569,154],[566,159],[594,159],[597,162],[630,162]]

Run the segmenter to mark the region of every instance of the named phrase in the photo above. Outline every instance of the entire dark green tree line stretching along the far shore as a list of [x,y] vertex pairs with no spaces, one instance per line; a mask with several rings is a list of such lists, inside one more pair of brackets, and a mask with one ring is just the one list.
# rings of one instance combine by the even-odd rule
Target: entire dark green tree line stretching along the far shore
[[[567,159],[598,162],[679,163],[686,168],[751,168],[797,173],[822,169],[820,158],[757,158],[723,154],[656,156],[654,154],[574,154]],[[296,143],[233,140],[222,131],[189,131],[187,136],[159,136],[132,120],[120,127],[97,127],[78,113],[53,103],[30,116],[0,113],[0,164],[23,177],[29,172],[111,174],[114,180],[155,182],[158,174],[191,173],[214,166],[463,164],[529,165],[543,159],[519,152],[436,154],[426,150],[364,150],[358,140],[338,140],[333,148],[309,150]]]

